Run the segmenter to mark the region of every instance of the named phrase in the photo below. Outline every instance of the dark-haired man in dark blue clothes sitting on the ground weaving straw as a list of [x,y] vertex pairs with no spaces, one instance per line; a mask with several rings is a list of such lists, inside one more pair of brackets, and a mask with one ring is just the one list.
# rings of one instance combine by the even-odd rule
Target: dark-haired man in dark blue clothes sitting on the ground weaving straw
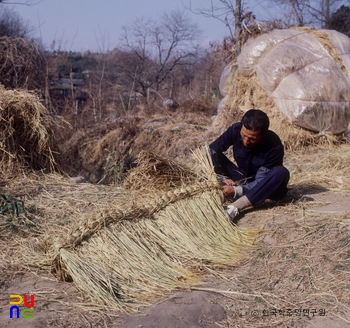
[[[287,193],[284,148],[269,125],[263,111],[251,109],[209,145],[215,172],[222,177],[223,194],[235,199],[226,210],[231,219],[248,206],[279,200]],[[237,165],[223,154],[230,146]]]

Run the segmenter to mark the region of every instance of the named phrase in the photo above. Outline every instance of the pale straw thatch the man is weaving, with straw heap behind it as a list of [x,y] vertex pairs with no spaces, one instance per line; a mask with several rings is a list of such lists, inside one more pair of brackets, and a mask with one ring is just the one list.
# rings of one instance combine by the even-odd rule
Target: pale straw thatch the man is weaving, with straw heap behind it
[[[133,178],[147,172],[144,181],[136,179],[141,189],[129,190],[128,199],[55,243],[52,269],[57,276],[73,280],[99,303],[129,311],[198,283],[197,267],[233,265],[252,245],[255,232],[228,221],[208,149],[194,156],[202,162],[191,171],[141,154],[145,162],[128,180],[132,186]],[[156,183],[149,183],[152,172],[158,191]]]

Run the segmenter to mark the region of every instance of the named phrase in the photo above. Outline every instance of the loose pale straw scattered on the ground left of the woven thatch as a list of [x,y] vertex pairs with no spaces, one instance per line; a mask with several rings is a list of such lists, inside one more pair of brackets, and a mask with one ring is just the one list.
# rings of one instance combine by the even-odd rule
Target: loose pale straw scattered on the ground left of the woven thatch
[[[50,263],[45,254],[52,247],[53,238],[67,237],[73,226],[98,215],[115,199],[128,197],[121,188],[76,184],[58,173],[42,172],[26,172],[16,179],[4,176],[1,192],[24,202],[19,216],[12,215],[12,211],[0,214],[0,244],[1,249],[7,250],[0,266],[13,266],[13,272],[25,270],[26,264],[48,270]],[[19,249],[27,251],[18,252]],[[13,274],[11,269],[3,272]]]

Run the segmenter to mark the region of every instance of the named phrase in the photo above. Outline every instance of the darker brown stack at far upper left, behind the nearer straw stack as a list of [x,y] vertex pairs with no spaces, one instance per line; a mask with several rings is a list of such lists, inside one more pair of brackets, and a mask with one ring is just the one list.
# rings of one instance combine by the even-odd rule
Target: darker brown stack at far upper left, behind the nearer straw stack
[[38,46],[23,38],[0,38],[0,81],[11,89],[41,89],[46,60]]

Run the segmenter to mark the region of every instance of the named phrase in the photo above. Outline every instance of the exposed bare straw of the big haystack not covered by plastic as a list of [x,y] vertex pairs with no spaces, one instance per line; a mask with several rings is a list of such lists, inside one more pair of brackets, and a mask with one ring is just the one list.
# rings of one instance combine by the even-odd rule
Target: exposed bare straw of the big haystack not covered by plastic
[[[336,62],[344,69],[337,49],[329,41],[325,32],[309,28],[298,28],[303,33],[310,33],[330,52]],[[300,128],[289,121],[281,113],[275,102],[262,88],[260,81],[254,73],[251,76],[243,76],[239,69],[233,69],[236,63],[232,63],[232,74],[227,78],[224,90],[227,93],[223,110],[213,123],[213,128],[223,132],[232,123],[241,119],[245,111],[251,108],[259,108],[270,117],[271,130],[281,138],[286,149],[296,150],[305,146],[336,145],[344,141],[344,136],[320,134]]]

